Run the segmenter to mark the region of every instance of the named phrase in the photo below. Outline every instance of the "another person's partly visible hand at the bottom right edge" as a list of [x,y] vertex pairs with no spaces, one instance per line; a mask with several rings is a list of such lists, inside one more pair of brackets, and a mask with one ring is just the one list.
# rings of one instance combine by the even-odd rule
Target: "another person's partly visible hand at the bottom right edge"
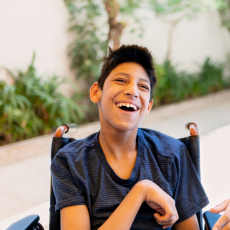
[[230,199],[210,209],[212,213],[220,213],[223,211],[225,211],[224,214],[215,223],[213,230],[230,230]]

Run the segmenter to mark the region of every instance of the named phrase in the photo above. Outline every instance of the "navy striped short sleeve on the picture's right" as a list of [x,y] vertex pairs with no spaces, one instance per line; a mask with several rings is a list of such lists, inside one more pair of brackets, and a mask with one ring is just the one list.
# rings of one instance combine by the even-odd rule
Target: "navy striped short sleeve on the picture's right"
[[199,212],[209,201],[187,148],[183,145],[179,151],[179,156],[172,162],[172,178],[175,180],[178,222],[181,222]]

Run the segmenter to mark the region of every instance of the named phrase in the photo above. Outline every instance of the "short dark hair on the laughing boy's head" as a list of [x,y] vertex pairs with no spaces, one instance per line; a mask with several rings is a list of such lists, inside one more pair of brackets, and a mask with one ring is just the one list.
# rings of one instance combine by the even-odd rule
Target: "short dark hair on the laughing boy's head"
[[109,47],[108,57],[104,58],[104,65],[102,66],[101,75],[98,79],[98,85],[103,90],[105,79],[109,76],[110,72],[118,65],[125,62],[135,62],[140,64],[146,71],[150,80],[150,101],[153,95],[153,89],[156,85],[157,79],[153,58],[149,50],[145,47],[138,45],[122,45],[117,50],[112,50]]

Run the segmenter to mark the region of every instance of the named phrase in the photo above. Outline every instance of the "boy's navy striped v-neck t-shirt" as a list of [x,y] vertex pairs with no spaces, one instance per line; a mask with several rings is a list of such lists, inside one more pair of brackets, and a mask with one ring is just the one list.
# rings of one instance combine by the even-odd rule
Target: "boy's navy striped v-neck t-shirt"
[[[56,211],[85,204],[91,229],[98,229],[119,206],[132,187],[148,179],[174,200],[178,222],[191,217],[208,204],[208,198],[185,145],[165,134],[138,129],[137,158],[129,179],[116,175],[98,141],[99,132],[62,148],[51,164]],[[155,211],[142,204],[131,229],[162,229]],[[171,228],[168,228],[171,229]]]

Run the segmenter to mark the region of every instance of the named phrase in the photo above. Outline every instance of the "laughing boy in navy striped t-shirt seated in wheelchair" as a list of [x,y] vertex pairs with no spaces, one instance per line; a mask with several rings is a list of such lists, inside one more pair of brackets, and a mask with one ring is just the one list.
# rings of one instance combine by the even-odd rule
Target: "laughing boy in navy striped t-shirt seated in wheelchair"
[[208,199],[186,147],[139,129],[156,83],[150,52],[121,46],[90,89],[101,129],[59,151],[51,171],[62,230],[199,229]]

